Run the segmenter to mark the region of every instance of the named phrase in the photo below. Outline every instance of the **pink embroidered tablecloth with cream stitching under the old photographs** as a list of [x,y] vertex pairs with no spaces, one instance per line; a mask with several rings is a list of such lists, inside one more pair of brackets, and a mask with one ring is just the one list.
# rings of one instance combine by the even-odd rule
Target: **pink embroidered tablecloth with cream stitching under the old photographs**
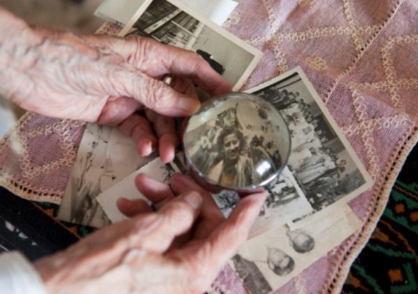
[[[246,0],[224,26],[264,53],[245,88],[300,65],[375,181],[350,202],[362,229],[277,291],[338,293],[418,139],[418,1]],[[0,141],[0,184],[59,204],[83,131],[26,114]],[[245,293],[229,268],[214,288]]]

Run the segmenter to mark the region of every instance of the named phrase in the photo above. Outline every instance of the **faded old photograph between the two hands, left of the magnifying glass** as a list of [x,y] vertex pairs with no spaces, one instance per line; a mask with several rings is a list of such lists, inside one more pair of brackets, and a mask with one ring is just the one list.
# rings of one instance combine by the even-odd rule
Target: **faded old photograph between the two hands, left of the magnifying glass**
[[109,224],[96,198],[149,161],[137,156],[132,138],[118,128],[87,124],[57,218],[90,227]]

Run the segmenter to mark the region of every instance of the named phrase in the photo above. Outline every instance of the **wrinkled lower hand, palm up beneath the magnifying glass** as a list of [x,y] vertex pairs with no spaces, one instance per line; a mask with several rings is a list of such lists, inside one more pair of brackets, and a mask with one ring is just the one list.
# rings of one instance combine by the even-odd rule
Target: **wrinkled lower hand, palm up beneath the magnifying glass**
[[[130,220],[36,261],[49,293],[203,293],[247,239],[266,193],[244,197],[224,219],[210,195],[183,174],[171,188],[140,174],[150,199],[119,199]],[[175,197],[175,195],[178,195]]]

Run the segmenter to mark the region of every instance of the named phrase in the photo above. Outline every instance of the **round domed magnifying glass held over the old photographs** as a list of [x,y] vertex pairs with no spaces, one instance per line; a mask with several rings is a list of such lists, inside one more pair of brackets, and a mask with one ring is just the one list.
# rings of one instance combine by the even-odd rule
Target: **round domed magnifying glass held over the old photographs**
[[279,176],[291,136],[274,106],[233,92],[204,101],[189,117],[183,149],[190,174],[205,188],[249,193]]

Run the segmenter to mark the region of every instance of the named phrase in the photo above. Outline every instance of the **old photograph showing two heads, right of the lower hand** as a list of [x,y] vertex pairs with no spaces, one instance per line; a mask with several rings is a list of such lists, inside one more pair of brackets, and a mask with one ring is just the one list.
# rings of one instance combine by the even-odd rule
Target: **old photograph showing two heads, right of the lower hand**
[[249,293],[273,293],[361,226],[344,204],[300,229],[291,231],[284,225],[247,240],[229,266]]

